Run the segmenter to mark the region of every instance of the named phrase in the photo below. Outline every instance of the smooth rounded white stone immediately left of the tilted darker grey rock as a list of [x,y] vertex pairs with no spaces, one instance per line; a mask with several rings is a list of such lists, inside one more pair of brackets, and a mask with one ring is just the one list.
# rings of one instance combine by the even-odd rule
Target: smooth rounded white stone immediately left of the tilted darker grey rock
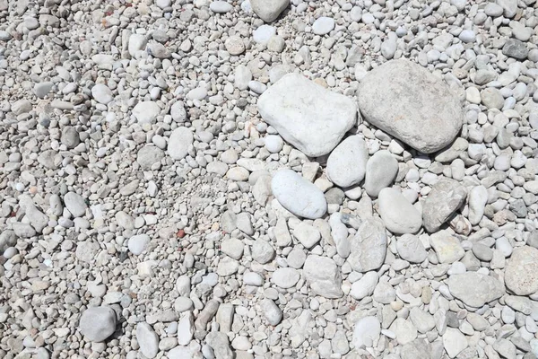
[[402,192],[395,188],[383,188],[377,199],[377,212],[386,229],[395,234],[416,233],[421,230],[421,213],[412,206]]

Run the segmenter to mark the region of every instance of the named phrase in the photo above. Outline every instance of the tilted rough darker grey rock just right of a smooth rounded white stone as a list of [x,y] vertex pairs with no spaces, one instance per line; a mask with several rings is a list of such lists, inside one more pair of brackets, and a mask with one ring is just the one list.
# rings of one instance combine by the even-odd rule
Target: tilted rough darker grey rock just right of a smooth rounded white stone
[[456,180],[441,179],[422,203],[422,221],[428,232],[436,232],[464,205],[467,190]]

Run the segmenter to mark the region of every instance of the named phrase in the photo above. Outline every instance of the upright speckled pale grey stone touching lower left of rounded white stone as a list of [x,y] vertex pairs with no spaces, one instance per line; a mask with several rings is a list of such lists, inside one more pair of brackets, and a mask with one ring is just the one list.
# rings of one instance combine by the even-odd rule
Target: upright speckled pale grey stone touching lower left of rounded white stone
[[377,217],[367,218],[351,239],[348,262],[358,272],[369,272],[383,265],[386,257],[386,230]]

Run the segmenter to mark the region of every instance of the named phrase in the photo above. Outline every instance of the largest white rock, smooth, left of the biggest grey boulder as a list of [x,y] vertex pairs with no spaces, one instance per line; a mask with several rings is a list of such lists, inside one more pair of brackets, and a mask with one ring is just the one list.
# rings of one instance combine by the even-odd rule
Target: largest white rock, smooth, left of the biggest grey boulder
[[260,115],[309,157],[330,153],[355,125],[357,106],[301,74],[285,74],[257,102]]

